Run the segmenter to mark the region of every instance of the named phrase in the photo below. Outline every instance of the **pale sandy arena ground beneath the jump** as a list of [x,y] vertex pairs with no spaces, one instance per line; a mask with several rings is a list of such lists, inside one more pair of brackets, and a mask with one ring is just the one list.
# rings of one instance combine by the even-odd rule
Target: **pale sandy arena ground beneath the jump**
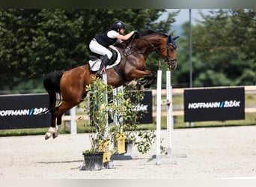
[[[166,131],[162,131],[166,144]],[[256,178],[256,126],[174,129],[173,156],[156,165],[152,156],[132,150],[133,159],[115,160],[115,168],[81,171],[88,134],[0,138],[0,179],[209,179]],[[170,164],[177,162],[176,165]],[[147,164],[147,165],[144,165]]]

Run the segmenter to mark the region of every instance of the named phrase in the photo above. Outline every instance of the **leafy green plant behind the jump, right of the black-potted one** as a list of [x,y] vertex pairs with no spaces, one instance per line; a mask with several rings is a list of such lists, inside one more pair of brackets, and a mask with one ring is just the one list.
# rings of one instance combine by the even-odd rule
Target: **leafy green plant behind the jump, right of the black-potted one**
[[115,108],[118,115],[123,118],[120,129],[125,133],[126,153],[131,154],[132,145],[137,147],[139,153],[147,153],[156,141],[152,130],[138,130],[138,119],[145,111],[138,111],[138,105],[144,99],[144,91],[137,90],[134,85],[124,85],[123,93],[117,94],[120,104]]

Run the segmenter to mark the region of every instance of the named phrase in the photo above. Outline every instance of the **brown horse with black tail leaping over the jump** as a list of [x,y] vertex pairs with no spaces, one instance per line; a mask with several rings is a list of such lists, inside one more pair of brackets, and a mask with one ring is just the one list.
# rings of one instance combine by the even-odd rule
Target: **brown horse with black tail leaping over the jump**
[[[138,80],[138,86],[144,85],[144,88],[149,88],[156,79],[156,72],[145,69],[147,56],[157,52],[167,61],[168,68],[175,70],[177,45],[174,40],[177,38],[157,31],[147,31],[146,34],[134,34],[128,42],[116,44],[121,61],[118,65],[105,70],[107,84],[117,88],[132,80]],[[96,72],[91,71],[89,64],[84,64],[64,72],[52,72],[46,76],[43,85],[49,93],[48,111],[52,114],[51,125],[45,134],[46,140],[51,136],[58,136],[61,131],[62,115],[84,100],[88,92],[85,88],[92,83],[95,75]],[[61,104],[55,106],[58,94],[61,96]]]

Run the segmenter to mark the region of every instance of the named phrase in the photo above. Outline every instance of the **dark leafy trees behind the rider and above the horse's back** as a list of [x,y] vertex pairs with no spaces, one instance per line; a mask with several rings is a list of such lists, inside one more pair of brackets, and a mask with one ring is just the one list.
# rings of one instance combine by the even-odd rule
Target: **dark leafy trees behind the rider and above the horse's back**
[[118,19],[127,23],[128,31],[152,28],[167,33],[175,21],[175,13],[169,13],[168,19],[157,22],[165,11],[0,10],[0,90],[12,90],[21,82],[34,79],[42,84],[43,77],[49,72],[69,70],[87,63],[91,38]]

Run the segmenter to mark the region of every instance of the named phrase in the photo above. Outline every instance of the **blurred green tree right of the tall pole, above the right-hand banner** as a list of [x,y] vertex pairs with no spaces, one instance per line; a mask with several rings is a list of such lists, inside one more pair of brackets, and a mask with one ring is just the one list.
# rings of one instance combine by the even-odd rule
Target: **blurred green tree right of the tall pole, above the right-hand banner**
[[210,85],[254,85],[256,76],[243,73],[256,71],[255,10],[218,10],[204,19],[204,28],[195,33],[193,46],[201,53],[204,72],[216,72],[216,76],[208,76]]

